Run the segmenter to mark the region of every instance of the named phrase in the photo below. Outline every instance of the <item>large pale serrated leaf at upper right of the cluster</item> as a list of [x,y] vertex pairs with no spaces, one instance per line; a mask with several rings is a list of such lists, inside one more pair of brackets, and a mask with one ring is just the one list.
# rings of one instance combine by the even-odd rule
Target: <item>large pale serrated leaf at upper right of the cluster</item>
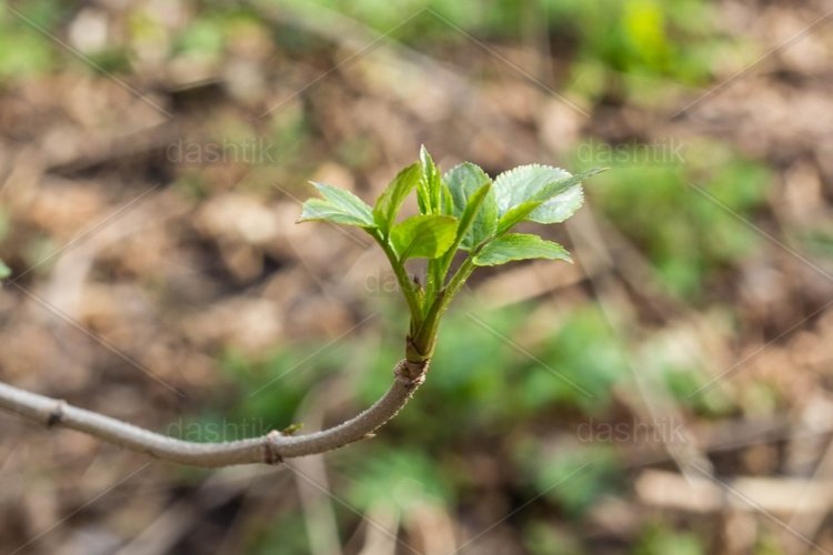
[[[579,175],[571,175],[570,172],[560,168],[530,164],[503,172],[494,181],[500,214],[503,216],[524,202],[538,201],[541,203],[539,206],[514,223],[522,220],[539,223],[563,222],[582,205],[584,198],[581,182],[601,171],[604,170],[593,169]],[[514,218],[516,215],[518,213]]]

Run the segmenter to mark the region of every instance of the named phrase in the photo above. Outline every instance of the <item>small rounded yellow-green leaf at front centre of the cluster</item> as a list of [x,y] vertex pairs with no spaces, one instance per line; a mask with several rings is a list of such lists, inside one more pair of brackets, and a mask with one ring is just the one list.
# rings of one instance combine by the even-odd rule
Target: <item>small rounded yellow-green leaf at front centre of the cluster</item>
[[391,243],[399,260],[442,256],[456,236],[456,218],[421,214],[409,218],[391,230]]

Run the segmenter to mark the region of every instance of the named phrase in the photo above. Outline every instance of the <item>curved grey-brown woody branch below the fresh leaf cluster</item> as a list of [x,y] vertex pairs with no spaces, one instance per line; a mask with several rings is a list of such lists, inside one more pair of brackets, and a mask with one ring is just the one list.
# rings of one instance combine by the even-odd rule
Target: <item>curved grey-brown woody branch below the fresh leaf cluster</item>
[[393,370],[394,379],[388,392],[371,407],[337,426],[303,435],[283,435],[275,430],[260,437],[234,442],[177,440],[4,383],[0,383],[0,408],[46,424],[47,427],[78,430],[170,463],[204,467],[278,464],[284,458],[324,453],[370,436],[402,410],[425,381],[426,372],[428,361],[401,361]]

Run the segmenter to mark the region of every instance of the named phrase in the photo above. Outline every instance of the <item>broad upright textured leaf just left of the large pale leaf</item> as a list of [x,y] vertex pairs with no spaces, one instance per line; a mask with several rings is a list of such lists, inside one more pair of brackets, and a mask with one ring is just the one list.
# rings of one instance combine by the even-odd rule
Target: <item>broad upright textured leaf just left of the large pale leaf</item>
[[[472,249],[494,235],[498,231],[498,201],[489,175],[479,167],[465,162],[449,170],[443,181],[451,191],[453,214],[460,218],[460,229],[465,231],[461,246]],[[475,198],[475,194],[479,196]],[[466,210],[471,212],[468,214],[471,228],[466,221]]]

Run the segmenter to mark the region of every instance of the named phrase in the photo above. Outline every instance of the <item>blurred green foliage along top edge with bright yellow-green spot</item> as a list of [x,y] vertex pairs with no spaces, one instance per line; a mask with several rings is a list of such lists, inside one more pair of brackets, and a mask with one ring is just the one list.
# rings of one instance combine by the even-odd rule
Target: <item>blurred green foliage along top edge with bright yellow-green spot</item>
[[545,32],[556,44],[552,48],[570,52],[569,89],[591,100],[622,85],[641,101],[671,81],[703,85],[715,56],[736,40],[710,24],[712,7],[705,0],[293,0],[290,6],[308,17],[314,17],[315,7],[343,13],[429,52],[465,44],[470,34],[528,41]]

